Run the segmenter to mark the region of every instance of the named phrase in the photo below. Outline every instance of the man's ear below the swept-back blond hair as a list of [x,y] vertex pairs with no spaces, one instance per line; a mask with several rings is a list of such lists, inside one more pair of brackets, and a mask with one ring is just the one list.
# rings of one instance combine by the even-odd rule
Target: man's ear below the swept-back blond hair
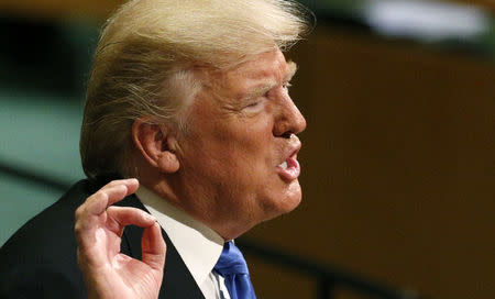
[[173,174],[179,169],[175,154],[175,137],[165,125],[151,124],[145,119],[132,124],[132,140],[144,159],[161,173]]

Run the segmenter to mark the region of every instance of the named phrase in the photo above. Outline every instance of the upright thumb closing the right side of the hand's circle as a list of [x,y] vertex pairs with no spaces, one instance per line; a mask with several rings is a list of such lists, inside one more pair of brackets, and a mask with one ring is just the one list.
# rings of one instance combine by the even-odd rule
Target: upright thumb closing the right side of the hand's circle
[[143,250],[143,263],[163,274],[166,245],[162,236],[162,229],[157,222],[155,222],[153,226],[144,230],[143,239],[141,240],[141,247]]

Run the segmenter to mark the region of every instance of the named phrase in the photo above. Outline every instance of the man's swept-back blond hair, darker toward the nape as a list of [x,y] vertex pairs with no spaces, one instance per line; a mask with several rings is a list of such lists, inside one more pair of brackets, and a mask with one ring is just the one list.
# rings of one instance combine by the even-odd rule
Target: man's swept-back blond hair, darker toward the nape
[[[283,0],[131,0],[103,26],[88,82],[80,136],[88,177],[129,168],[134,120],[180,125],[200,85],[195,66],[226,68],[287,49],[308,11]],[[187,124],[186,124],[187,125]]]

